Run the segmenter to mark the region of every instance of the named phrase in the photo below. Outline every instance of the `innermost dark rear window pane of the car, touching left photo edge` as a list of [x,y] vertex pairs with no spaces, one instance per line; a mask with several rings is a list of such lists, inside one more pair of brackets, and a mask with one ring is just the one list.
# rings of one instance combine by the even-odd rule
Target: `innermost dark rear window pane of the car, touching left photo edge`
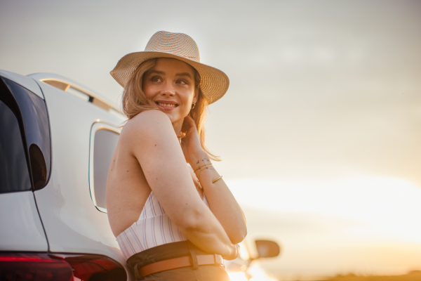
[[0,193],[31,189],[18,119],[0,100]]

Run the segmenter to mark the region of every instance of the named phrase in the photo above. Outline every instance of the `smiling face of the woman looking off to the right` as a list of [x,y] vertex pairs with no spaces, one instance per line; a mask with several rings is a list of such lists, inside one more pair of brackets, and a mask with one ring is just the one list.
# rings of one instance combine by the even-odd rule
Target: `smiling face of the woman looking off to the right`
[[197,100],[194,69],[181,60],[159,58],[144,74],[142,90],[151,103],[170,117],[173,125],[181,121],[181,126]]

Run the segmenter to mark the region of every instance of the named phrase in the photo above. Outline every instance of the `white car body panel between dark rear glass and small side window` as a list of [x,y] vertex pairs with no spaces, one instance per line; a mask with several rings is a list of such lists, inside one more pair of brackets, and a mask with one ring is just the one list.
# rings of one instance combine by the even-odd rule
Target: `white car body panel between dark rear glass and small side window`
[[39,84],[50,117],[53,169],[46,188],[34,195],[50,250],[105,254],[115,259],[121,252],[107,214],[95,208],[89,190],[89,137],[92,124],[99,119],[116,126],[124,119],[41,81]]

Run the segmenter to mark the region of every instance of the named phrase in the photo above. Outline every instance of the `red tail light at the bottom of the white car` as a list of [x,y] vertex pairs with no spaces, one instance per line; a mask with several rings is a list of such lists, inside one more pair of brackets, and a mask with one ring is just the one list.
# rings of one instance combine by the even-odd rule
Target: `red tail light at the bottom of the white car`
[[126,270],[106,256],[0,254],[1,281],[126,281]]

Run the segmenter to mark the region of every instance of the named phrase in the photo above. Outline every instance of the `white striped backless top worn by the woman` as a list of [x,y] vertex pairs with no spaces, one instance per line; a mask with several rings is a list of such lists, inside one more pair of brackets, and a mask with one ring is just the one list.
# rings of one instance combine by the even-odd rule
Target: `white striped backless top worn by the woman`
[[[209,207],[205,195],[203,202]],[[165,213],[151,191],[138,221],[116,237],[126,260],[134,254],[162,244],[187,240]]]

